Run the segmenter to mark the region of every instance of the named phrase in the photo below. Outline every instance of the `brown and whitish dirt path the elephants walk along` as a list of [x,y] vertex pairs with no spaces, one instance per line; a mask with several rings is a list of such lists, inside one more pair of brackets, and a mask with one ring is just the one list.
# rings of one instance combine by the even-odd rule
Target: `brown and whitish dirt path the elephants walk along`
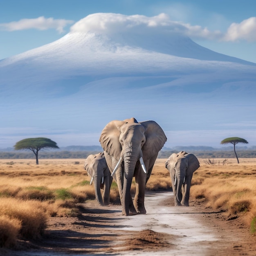
[[256,255],[255,237],[237,220],[227,221],[199,201],[172,204],[172,192],[148,193],[147,214],[125,217],[119,204],[91,201],[81,205],[77,218],[51,218],[40,243],[23,243],[11,255]]

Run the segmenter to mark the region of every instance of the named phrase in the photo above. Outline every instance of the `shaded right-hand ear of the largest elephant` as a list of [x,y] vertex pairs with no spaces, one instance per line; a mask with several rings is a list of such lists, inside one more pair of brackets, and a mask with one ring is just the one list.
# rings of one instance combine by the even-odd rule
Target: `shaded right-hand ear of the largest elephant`
[[146,127],[146,142],[142,147],[143,159],[147,160],[158,154],[167,138],[162,128],[155,121],[140,122]]

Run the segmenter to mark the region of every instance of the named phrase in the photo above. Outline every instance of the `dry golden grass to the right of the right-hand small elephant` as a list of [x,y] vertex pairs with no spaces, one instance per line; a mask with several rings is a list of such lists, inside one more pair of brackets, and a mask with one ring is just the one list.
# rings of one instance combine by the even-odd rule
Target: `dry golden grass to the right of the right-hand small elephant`
[[[206,164],[199,159],[200,168],[194,173],[191,198],[204,198],[213,209],[226,211],[227,217],[241,217],[256,231],[256,159],[215,159]],[[219,160],[219,161],[217,161]]]

